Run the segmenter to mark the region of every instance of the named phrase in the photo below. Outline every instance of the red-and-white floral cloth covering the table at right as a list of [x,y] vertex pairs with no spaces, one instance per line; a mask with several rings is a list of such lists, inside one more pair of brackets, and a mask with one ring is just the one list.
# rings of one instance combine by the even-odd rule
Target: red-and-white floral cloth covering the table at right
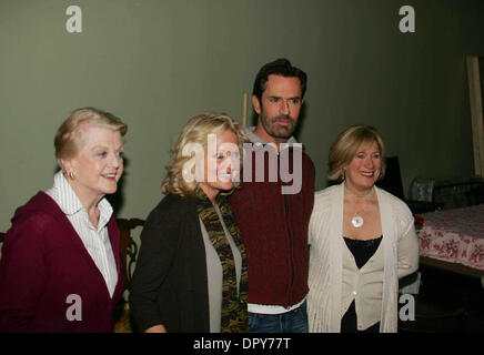
[[415,215],[420,255],[484,270],[484,204]]

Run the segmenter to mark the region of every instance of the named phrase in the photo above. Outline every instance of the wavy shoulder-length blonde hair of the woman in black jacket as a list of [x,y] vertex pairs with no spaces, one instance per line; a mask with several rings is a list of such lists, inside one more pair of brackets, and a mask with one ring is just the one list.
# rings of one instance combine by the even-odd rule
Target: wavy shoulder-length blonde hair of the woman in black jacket
[[[172,164],[167,168],[168,175],[162,182],[161,191],[164,194],[178,194],[183,197],[192,196],[199,189],[196,181],[186,181],[183,179],[182,171],[186,162],[192,156],[183,156],[183,148],[186,144],[201,144],[206,149],[209,134],[221,134],[225,131],[233,132],[238,138],[239,152],[242,156],[243,143],[248,142],[240,124],[225,114],[203,112],[192,118],[182,129],[178,141],[171,149]],[[242,161],[241,161],[242,168]],[[234,182],[234,187],[240,187],[240,182]]]

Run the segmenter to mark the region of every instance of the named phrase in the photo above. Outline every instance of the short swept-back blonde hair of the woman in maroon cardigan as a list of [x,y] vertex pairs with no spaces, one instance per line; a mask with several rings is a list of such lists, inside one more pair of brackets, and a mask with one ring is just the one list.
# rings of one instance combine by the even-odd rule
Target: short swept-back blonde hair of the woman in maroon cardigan
[[120,132],[124,135],[128,132],[128,125],[121,122],[109,112],[94,108],[83,108],[72,111],[64,122],[59,126],[53,145],[56,148],[56,158],[69,159],[74,156],[79,151],[79,126],[83,122],[92,123],[95,126],[104,126]]

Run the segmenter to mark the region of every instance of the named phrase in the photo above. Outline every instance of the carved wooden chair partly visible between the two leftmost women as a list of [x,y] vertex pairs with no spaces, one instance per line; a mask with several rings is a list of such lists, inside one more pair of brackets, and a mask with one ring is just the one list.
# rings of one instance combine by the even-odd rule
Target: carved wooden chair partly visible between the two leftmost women
[[[138,245],[134,243],[131,232],[135,227],[144,225],[144,221],[140,219],[118,219],[117,222],[120,229],[121,270],[125,281],[125,290],[129,291],[131,277],[133,275],[133,265],[135,264],[138,256]],[[120,313],[121,314],[114,324],[114,333],[131,333],[130,307],[125,300]]]

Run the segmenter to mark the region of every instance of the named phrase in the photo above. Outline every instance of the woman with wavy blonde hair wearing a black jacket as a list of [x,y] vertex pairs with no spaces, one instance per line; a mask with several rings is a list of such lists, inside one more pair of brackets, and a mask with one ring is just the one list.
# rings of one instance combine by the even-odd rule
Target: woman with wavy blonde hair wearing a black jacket
[[239,183],[244,135],[223,114],[182,130],[150,213],[131,284],[138,331],[246,332],[245,248],[225,195]]

